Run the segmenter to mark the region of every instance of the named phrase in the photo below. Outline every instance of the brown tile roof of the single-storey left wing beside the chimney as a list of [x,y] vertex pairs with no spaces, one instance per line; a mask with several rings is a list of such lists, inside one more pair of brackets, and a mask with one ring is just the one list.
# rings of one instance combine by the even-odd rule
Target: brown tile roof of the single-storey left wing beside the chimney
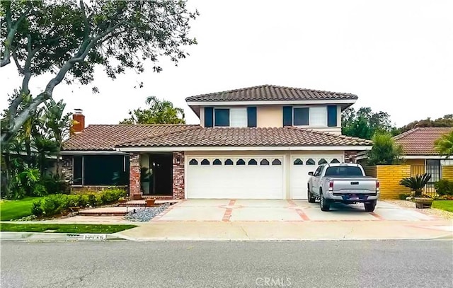
[[64,142],[64,150],[115,150],[115,145],[133,139],[159,136],[198,125],[89,125]]

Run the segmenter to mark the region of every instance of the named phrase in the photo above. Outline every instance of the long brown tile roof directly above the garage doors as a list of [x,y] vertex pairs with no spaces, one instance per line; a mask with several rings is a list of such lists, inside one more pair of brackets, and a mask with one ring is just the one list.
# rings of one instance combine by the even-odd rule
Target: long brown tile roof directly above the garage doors
[[355,137],[299,129],[193,127],[159,136],[144,137],[119,144],[125,146],[370,146],[372,142]]

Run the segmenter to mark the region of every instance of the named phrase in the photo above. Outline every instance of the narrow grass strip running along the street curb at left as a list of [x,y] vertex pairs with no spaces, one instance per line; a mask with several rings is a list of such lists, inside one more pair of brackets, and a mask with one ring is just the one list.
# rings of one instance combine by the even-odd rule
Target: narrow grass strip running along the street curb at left
[[110,234],[134,227],[137,227],[137,225],[1,223],[0,231]]

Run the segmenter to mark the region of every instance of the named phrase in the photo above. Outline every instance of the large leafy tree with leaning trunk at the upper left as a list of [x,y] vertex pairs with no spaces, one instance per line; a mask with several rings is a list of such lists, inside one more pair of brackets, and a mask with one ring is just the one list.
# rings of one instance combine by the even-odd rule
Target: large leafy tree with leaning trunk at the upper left
[[[188,55],[183,47],[196,44],[188,32],[197,11],[188,11],[185,0],[1,1],[0,8],[0,66],[14,63],[23,76],[2,119],[2,146],[63,80],[91,83],[96,66],[112,79],[126,69],[141,73],[147,60],[159,72],[161,57],[177,63]],[[42,74],[51,74],[44,91],[30,91],[30,80]]]

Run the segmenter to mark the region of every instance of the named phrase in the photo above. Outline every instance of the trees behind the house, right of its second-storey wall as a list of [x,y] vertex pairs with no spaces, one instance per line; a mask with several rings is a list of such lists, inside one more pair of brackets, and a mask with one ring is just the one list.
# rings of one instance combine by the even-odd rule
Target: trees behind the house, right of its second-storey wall
[[390,132],[391,121],[388,113],[374,113],[369,107],[359,110],[348,108],[341,115],[341,132],[351,137],[372,139],[377,132]]

